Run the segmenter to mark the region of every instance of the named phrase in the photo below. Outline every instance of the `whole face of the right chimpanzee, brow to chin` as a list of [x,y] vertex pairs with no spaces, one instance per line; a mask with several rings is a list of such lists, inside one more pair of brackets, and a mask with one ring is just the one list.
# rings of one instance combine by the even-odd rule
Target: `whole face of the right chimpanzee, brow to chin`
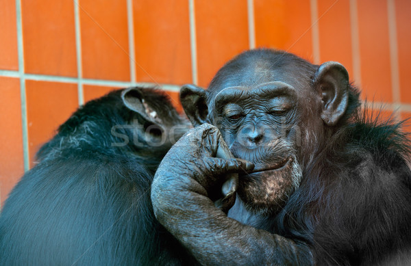
[[[247,78],[248,72],[241,77]],[[256,165],[258,172],[240,176],[237,192],[259,212],[277,211],[301,179],[296,156],[301,106],[297,89],[278,76],[258,81],[251,77],[247,79],[251,83],[217,89],[210,114],[234,157]]]

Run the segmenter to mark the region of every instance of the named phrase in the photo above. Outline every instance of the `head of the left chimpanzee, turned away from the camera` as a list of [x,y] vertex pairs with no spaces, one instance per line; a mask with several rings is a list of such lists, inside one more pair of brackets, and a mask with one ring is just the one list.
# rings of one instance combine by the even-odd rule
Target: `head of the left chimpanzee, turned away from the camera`
[[38,161],[75,157],[78,150],[82,156],[125,154],[155,171],[188,129],[188,122],[164,91],[140,87],[114,90],[75,111],[36,157]]

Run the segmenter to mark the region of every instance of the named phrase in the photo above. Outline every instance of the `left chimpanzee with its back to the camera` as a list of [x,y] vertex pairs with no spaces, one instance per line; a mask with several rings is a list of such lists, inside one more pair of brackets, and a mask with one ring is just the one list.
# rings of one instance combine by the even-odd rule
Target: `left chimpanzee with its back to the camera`
[[79,108],[6,200],[0,265],[190,258],[155,220],[150,200],[158,164],[188,126],[165,94],[149,88],[114,91]]

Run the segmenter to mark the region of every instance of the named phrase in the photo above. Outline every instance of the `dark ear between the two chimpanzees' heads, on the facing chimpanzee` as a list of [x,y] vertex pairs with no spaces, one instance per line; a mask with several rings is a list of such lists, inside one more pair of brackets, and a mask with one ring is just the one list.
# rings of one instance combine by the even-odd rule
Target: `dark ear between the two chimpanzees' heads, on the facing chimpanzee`
[[196,85],[183,85],[180,90],[180,101],[194,127],[207,122],[208,106],[206,90]]

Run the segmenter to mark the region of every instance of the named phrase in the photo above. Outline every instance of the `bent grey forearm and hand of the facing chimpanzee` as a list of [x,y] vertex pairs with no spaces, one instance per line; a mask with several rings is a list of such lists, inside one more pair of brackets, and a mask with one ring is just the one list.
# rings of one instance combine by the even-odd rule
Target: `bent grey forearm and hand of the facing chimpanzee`
[[222,144],[219,130],[203,124],[171,148],[151,190],[159,222],[203,265],[311,264],[307,245],[240,224],[214,207],[210,187],[225,174],[252,167],[246,161],[214,158]]

